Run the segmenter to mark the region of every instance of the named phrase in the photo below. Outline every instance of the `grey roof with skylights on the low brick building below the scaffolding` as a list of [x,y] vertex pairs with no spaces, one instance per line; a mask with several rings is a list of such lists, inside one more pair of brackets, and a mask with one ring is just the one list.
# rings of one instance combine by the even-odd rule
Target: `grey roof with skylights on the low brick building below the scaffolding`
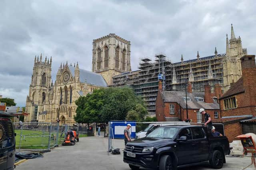
[[[185,92],[179,92],[179,91],[162,91],[162,98],[164,99],[164,102],[176,102],[180,104],[182,108],[186,108],[186,101],[182,98],[186,96]],[[191,101],[188,101],[188,109],[211,109],[216,110],[220,109],[220,106],[217,102],[214,103],[205,103],[205,102],[198,102],[195,97],[204,98],[204,92],[193,92],[188,93],[187,97],[191,99]]]

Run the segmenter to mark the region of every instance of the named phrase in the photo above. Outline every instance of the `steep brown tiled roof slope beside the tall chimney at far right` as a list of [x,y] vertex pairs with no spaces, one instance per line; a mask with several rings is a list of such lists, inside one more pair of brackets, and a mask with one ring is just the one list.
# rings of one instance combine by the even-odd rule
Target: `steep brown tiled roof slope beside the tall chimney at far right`
[[231,84],[230,89],[223,96],[221,96],[220,99],[244,92],[243,83],[244,83],[243,78],[242,77],[239,78],[239,80],[237,82],[235,82],[234,84]]

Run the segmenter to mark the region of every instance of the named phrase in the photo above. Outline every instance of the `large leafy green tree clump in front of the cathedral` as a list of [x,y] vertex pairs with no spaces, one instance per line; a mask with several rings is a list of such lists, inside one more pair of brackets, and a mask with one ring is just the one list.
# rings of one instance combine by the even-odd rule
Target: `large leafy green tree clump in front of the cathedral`
[[137,110],[146,110],[142,98],[136,97],[134,91],[128,87],[94,90],[92,94],[78,98],[76,105],[78,107],[74,119],[78,123],[125,120],[128,111],[136,110],[136,105]]

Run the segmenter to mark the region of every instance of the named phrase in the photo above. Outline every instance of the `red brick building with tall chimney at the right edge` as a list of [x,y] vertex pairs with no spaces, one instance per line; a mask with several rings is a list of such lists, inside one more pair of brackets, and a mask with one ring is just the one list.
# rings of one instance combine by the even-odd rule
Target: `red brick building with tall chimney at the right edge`
[[241,57],[242,77],[220,98],[221,119],[229,141],[245,133],[256,133],[255,55]]

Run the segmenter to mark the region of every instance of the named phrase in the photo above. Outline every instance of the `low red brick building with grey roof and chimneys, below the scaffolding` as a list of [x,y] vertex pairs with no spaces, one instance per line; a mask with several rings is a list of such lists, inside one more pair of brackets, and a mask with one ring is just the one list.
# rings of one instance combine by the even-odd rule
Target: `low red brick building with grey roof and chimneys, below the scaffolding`
[[[188,84],[187,108],[188,119],[193,123],[204,122],[199,113],[204,108],[212,119],[220,118],[220,106],[217,97],[221,94],[221,87],[215,86],[215,94],[211,93],[210,86],[205,85],[205,92],[192,92],[192,84]],[[187,119],[186,92],[162,90],[162,82],[159,82],[156,98],[156,118],[158,121],[183,121]]]

